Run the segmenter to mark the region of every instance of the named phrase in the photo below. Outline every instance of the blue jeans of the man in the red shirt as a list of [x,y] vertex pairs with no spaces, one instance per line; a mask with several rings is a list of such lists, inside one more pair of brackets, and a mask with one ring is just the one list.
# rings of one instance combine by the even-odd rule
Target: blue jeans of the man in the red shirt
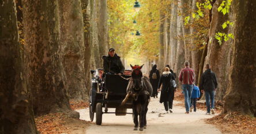
[[185,98],[185,107],[186,107],[186,112],[189,112],[190,108],[190,99],[191,99],[191,94],[193,90],[193,85],[188,85],[188,84],[183,84],[183,94]]

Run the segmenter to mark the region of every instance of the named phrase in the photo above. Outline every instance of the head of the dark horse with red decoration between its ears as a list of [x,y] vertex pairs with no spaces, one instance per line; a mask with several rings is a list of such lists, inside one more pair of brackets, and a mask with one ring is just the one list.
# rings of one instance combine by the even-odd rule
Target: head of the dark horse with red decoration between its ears
[[131,78],[133,78],[133,88],[135,90],[139,90],[142,89],[142,72],[141,72],[141,68],[144,66],[144,64],[142,66],[132,66],[130,64],[131,68],[132,68],[132,72],[131,72]]

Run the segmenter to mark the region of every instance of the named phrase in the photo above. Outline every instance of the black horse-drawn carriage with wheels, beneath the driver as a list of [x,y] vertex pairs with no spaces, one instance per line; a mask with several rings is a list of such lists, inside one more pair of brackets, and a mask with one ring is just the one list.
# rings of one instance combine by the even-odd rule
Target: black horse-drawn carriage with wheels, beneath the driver
[[[125,116],[127,109],[132,108],[130,101],[121,106],[126,96],[126,88],[128,85],[127,78],[131,77],[131,70],[125,70],[121,76],[114,74],[105,74],[102,69],[91,70],[92,89],[89,99],[89,116],[93,121],[94,113],[96,113],[96,124],[101,125],[102,114],[115,113],[116,116]],[[103,112],[104,108],[104,112]],[[115,108],[115,112],[108,112],[108,108]]]

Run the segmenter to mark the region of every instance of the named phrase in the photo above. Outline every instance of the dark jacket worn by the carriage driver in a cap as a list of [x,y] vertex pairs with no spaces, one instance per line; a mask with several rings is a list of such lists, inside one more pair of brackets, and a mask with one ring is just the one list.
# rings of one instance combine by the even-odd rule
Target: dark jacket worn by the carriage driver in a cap
[[110,72],[111,74],[123,74],[123,71],[125,71],[125,67],[123,67],[118,55],[115,54],[114,57],[111,57],[110,55],[102,56],[102,59],[104,72]]

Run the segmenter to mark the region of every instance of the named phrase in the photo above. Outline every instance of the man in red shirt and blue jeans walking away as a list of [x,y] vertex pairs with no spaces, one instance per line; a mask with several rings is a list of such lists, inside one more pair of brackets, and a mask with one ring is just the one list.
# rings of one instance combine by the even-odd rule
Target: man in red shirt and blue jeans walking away
[[185,68],[179,73],[179,81],[182,82],[182,89],[185,98],[186,114],[189,114],[189,108],[191,104],[191,93],[195,81],[195,73],[192,68],[189,67],[189,62],[185,62]]

